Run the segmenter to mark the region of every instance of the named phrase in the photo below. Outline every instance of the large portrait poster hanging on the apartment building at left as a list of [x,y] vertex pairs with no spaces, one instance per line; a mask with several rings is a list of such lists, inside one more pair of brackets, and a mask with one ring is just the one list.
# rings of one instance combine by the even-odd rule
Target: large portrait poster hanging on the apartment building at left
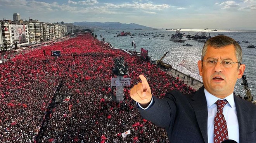
[[26,25],[13,25],[14,39],[17,43],[26,43]]

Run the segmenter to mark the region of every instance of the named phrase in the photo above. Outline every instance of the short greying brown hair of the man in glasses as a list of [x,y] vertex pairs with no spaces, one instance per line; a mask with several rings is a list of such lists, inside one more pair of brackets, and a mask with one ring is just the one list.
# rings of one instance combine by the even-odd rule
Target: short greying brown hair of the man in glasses
[[212,46],[215,49],[219,49],[219,48],[223,48],[228,45],[235,46],[235,56],[240,65],[240,63],[242,63],[242,49],[241,49],[240,45],[234,39],[232,39],[228,36],[223,36],[223,35],[212,37],[206,41],[206,43],[204,44],[204,47],[202,49],[201,60],[204,60],[204,56],[206,54],[208,46]]

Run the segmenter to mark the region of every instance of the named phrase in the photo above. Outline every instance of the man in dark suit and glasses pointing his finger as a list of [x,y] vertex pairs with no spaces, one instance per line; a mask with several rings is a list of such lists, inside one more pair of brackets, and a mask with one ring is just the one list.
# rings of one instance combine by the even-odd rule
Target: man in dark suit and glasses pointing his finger
[[166,129],[170,143],[255,143],[256,106],[233,95],[245,70],[239,44],[227,36],[212,37],[197,65],[204,86],[189,95],[170,91],[159,99],[140,75],[142,82],[130,95],[142,117]]

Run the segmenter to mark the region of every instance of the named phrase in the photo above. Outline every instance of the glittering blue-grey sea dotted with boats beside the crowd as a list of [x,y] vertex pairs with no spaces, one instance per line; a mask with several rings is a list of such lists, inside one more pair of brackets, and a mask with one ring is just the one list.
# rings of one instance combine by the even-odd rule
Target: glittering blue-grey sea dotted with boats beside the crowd
[[[254,99],[256,99],[256,48],[246,47],[250,44],[256,46],[256,31],[212,30],[213,29],[181,29],[180,32],[185,33],[185,35],[188,35],[189,33],[190,35],[194,35],[197,32],[205,31],[206,35],[208,36],[209,34],[212,37],[217,36],[218,34],[224,34],[225,36],[232,37],[236,41],[240,41],[240,46],[242,47],[243,52],[242,63],[246,64],[244,74],[247,78],[248,87],[251,89],[251,94],[254,96]],[[131,38],[129,35],[114,37],[116,34],[120,34],[121,31],[131,32],[131,34],[135,34],[135,36],[133,38]],[[185,43],[193,44],[193,46],[182,46],[184,43],[177,43],[169,40],[170,37],[168,35],[171,36],[171,34],[175,34],[175,31],[176,30],[165,29],[98,29],[93,33],[97,35],[99,40],[102,40],[102,38],[100,38],[101,34],[105,41],[111,43],[111,45],[115,48],[134,50],[134,48],[131,47],[131,41],[134,41],[137,51],[140,51],[140,48],[147,49],[148,54],[154,57],[156,60],[159,60],[165,52],[169,51],[169,53],[166,54],[166,57],[163,58],[164,62],[169,63],[173,68],[176,68],[180,72],[190,74],[191,77],[202,81],[202,78],[198,72],[197,61],[201,60],[201,52],[204,43],[198,43],[194,40],[187,40],[187,38],[183,37],[184,40],[187,40]],[[139,36],[139,34],[143,34],[142,37]],[[159,37],[152,37],[153,35],[159,35]],[[249,43],[242,42],[245,40],[248,40]],[[235,92],[236,94],[244,96],[246,95],[246,92],[241,83],[242,78],[237,80]]]

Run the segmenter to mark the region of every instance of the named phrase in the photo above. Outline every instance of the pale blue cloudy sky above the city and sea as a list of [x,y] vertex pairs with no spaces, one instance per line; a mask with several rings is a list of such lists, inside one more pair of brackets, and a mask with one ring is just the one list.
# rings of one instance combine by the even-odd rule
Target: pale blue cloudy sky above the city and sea
[[256,0],[0,0],[0,19],[256,30]]

